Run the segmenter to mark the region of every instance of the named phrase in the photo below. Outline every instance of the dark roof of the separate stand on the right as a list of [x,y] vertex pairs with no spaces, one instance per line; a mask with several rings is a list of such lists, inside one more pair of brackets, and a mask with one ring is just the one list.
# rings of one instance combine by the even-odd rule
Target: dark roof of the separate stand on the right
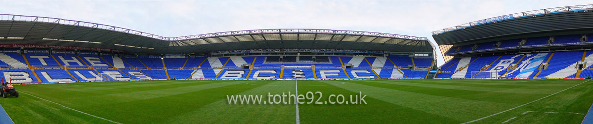
[[482,19],[432,32],[439,45],[591,34],[593,5],[563,6]]

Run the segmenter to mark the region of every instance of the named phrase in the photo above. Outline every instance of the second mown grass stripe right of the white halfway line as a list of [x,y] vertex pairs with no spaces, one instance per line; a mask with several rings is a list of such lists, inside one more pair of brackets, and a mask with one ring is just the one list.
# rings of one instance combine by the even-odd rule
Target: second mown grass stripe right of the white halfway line
[[382,87],[366,86],[357,83],[346,83],[335,86],[352,92],[362,92],[368,94],[367,97],[373,97],[384,102],[410,107],[412,109],[460,121],[467,120],[467,118],[480,118],[481,116],[476,113],[490,113],[499,110],[498,108],[501,107],[508,108],[516,106],[516,104],[435,96]]

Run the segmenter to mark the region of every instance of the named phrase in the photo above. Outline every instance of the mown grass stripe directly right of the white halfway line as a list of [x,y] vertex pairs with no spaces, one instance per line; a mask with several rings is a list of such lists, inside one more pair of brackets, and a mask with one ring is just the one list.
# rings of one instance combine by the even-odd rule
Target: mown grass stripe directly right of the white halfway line
[[[301,83],[302,82],[302,83]],[[299,94],[307,92],[322,92],[323,98],[320,102],[327,101],[330,94],[343,94],[347,99],[350,95],[358,95],[359,92],[346,90],[341,87],[342,81],[311,80],[307,83],[299,81]],[[320,86],[319,83],[327,84]],[[365,92],[362,92],[366,95]],[[317,94],[316,94],[317,95]],[[317,98],[315,98],[317,99]],[[396,98],[393,98],[396,99]],[[346,100],[349,101],[349,100]],[[406,106],[384,102],[366,96],[364,105],[314,105],[301,104],[302,123],[460,123],[461,121],[441,115],[426,113]],[[307,100],[308,102],[308,100]],[[405,115],[405,116],[404,116]]]

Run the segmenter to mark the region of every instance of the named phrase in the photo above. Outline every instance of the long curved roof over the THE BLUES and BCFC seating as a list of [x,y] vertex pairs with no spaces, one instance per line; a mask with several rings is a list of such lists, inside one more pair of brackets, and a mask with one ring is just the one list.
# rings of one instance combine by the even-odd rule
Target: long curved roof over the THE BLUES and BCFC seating
[[269,29],[162,37],[146,32],[69,19],[0,14],[3,44],[42,44],[178,54],[264,48],[329,48],[433,52],[426,37],[379,32]]

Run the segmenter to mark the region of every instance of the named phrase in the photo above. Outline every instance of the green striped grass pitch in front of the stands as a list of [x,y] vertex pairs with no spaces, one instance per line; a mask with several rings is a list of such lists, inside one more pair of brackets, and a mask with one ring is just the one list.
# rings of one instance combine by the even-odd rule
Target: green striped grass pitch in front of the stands
[[362,92],[367,103],[299,104],[301,123],[581,123],[593,102],[588,80],[422,79],[19,85],[20,97],[0,104],[15,123],[295,123],[295,104],[228,104],[227,95],[297,86],[299,94],[323,93],[319,102]]

